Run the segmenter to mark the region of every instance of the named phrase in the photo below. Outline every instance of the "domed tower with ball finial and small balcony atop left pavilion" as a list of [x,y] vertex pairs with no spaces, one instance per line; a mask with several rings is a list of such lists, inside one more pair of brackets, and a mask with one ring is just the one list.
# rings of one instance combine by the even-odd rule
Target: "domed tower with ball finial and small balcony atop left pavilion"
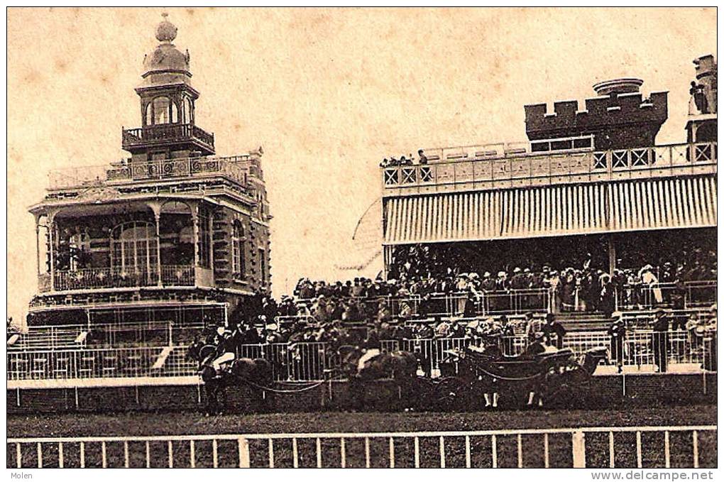
[[177,28],[163,14],[156,27],[159,46],[143,59],[141,127],[123,130],[123,148],[134,161],[209,156],[214,135],[195,125],[198,91],[191,85],[190,56],[172,43]]

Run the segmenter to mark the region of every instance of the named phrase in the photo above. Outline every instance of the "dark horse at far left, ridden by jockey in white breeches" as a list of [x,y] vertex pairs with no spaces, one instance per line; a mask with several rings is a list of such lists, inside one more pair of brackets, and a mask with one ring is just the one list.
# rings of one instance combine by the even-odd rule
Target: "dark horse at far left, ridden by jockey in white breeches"
[[[209,344],[195,343],[188,347],[186,357],[198,362],[198,375],[206,391],[206,413],[218,414],[226,405],[226,389],[230,386],[248,385],[262,393],[274,383],[271,363],[264,358],[237,358],[224,363],[218,370],[214,367],[219,352]],[[219,402],[219,399],[222,401]]]

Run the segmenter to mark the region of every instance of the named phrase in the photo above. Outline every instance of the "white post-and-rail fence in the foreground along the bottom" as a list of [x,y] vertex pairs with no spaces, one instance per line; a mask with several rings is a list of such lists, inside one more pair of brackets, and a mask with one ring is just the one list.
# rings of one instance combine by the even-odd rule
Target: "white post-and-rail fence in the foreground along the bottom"
[[716,426],[7,439],[8,468],[708,468]]

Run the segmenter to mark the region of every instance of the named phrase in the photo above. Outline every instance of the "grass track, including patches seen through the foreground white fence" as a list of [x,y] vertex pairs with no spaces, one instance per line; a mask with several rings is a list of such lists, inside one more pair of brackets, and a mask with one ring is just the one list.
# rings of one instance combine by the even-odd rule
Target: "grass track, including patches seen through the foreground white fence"
[[[628,410],[526,410],[476,413],[273,413],[255,415],[222,415],[205,417],[197,413],[125,413],[12,416],[7,420],[9,437],[32,436],[146,436],[186,434],[299,434],[309,432],[390,432],[390,431],[482,431],[523,428],[577,428],[586,426],[694,426],[715,425],[716,407],[698,405],[688,407],[649,407]],[[643,467],[665,465],[664,434],[641,434],[641,464]],[[269,457],[269,440],[249,442],[252,467],[292,467],[296,456],[300,467],[339,467],[342,449],[339,439],[303,439],[295,442],[274,441],[274,457]],[[548,444],[548,450],[544,449]],[[586,435],[586,463],[589,467],[607,467],[609,464],[607,433]],[[365,447],[368,444],[368,447]],[[491,467],[496,460],[499,467],[542,467],[545,453],[552,467],[570,467],[572,464],[571,434],[552,434],[544,441],[541,434],[517,436],[471,436],[468,440],[470,463],[473,467]],[[59,447],[43,443],[43,466],[59,465]],[[395,439],[395,467],[414,466],[413,439]],[[172,446],[172,449],[169,447]],[[495,448],[493,448],[493,446]],[[636,434],[615,434],[615,465],[636,467]],[[697,438],[699,466],[713,467],[717,460],[716,434],[701,432]],[[174,467],[234,467],[239,464],[237,440],[196,441],[119,441],[86,442],[83,449],[78,443],[64,444],[64,466],[80,465],[80,451],[84,453],[86,467],[167,466],[173,458]],[[390,440],[385,437],[347,439],[345,465],[389,467]],[[22,466],[37,466],[37,444],[21,444]],[[126,452],[124,452],[126,451]],[[672,467],[691,467],[694,440],[691,432],[670,434],[670,464]],[[9,467],[17,464],[17,446],[8,445]],[[126,454],[125,454],[126,453]],[[495,453],[495,455],[493,455]],[[366,462],[367,460],[367,462]],[[215,461],[215,462],[214,462]],[[437,437],[419,439],[418,463],[421,467],[439,467],[440,447]],[[445,439],[447,467],[466,465],[466,439],[448,436]]]

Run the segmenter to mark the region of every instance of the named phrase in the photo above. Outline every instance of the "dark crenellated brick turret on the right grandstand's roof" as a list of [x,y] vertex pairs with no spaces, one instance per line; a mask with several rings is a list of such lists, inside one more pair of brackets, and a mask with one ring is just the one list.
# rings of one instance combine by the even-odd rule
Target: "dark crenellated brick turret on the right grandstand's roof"
[[668,117],[668,93],[649,97],[639,92],[639,79],[609,80],[594,85],[599,96],[559,101],[553,111],[545,103],[525,106],[529,140],[594,135],[597,150],[650,147]]

